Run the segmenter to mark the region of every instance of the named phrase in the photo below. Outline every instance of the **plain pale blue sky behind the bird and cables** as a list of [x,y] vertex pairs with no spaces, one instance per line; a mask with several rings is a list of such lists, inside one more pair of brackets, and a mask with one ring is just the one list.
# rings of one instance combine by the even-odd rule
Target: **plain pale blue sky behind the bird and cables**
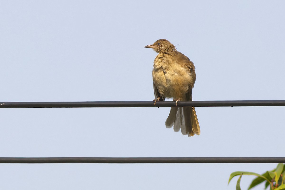
[[[1,1],[0,101],[151,101],[165,38],[196,66],[193,100],[278,100],[285,1]],[[0,109],[0,157],[284,157],[284,107]],[[276,164],[0,164],[1,189],[235,189]],[[244,176],[242,189],[253,177]],[[258,187],[262,189],[263,186]],[[256,188],[256,189],[258,189]]]

